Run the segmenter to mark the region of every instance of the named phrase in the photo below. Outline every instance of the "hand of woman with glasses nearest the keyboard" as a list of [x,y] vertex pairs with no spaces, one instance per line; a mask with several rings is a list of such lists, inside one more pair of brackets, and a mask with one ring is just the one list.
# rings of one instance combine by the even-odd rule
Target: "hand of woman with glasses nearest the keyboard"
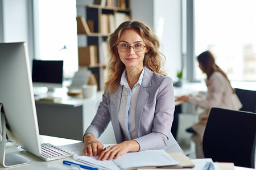
[[94,138],[91,133],[84,135],[84,155],[98,156],[103,150],[104,145]]

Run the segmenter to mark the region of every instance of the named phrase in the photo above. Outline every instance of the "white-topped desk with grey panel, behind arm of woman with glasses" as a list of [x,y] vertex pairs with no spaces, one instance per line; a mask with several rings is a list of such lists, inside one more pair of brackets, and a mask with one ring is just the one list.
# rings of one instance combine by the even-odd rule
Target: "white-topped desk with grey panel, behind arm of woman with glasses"
[[[39,133],[81,141],[96,114],[102,94],[97,92],[96,97],[83,99],[81,96],[68,96],[67,90],[59,89],[46,95],[61,97],[61,101],[53,103],[36,100]],[[115,143],[112,124],[109,124],[99,140],[102,143]]]

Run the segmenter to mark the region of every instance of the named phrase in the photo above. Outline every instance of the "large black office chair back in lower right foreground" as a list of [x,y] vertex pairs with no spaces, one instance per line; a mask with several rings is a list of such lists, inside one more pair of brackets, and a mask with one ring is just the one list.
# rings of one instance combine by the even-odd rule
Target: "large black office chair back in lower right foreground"
[[205,158],[254,168],[256,113],[212,108],[203,137]]

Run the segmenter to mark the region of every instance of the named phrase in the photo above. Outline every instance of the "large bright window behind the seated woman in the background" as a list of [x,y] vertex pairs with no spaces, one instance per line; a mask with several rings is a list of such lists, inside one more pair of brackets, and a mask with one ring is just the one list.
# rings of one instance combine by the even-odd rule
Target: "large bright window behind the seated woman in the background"
[[255,30],[255,0],[195,0],[195,54],[210,50],[230,80],[256,81]]

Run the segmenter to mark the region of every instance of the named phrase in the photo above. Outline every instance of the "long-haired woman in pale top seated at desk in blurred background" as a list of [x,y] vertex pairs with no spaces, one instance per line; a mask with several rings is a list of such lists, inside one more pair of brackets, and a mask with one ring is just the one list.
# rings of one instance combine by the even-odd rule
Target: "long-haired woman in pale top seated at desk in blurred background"
[[203,113],[199,115],[199,122],[188,128],[189,133],[195,133],[192,139],[196,142],[197,158],[203,158],[204,156],[201,143],[203,141],[203,135],[205,126],[207,124],[210,109],[213,107],[239,110],[242,108],[242,104],[236,95],[236,91],[232,88],[228,77],[218,67],[214,61],[213,54],[209,51],[201,53],[197,57],[199,67],[203,73],[207,74],[205,80],[208,89],[208,95],[204,96],[181,96],[176,100],[187,101],[188,103],[195,104],[205,109]]

